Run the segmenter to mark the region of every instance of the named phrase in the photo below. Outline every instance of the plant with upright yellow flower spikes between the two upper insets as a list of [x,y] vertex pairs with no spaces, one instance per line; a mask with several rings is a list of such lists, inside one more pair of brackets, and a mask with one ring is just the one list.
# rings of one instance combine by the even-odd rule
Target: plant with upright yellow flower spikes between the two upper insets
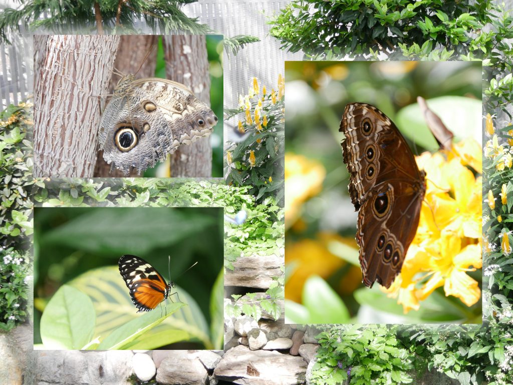
[[[281,76],[280,76],[281,79]],[[241,141],[228,143],[225,178],[228,185],[249,186],[249,193],[262,201],[274,196],[283,206],[284,196],[284,98],[280,91],[266,90],[262,96],[256,78],[250,94],[239,107],[228,109],[225,120],[238,116]],[[256,115],[255,115],[256,114]]]

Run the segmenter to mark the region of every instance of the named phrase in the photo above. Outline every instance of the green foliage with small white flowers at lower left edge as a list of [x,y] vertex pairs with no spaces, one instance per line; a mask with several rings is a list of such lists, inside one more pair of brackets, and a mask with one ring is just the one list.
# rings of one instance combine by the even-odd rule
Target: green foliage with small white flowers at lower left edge
[[0,329],[11,330],[27,317],[30,255],[0,250]]

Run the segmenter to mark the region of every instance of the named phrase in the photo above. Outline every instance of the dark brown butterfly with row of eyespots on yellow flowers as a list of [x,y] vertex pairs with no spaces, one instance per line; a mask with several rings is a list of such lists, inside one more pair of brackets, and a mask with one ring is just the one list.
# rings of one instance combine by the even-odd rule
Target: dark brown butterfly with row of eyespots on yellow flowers
[[376,107],[348,104],[340,131],[349,195],[359,211],[363,283],[370,288],[377,280],[389,288],[419,225],[426,174],[396,125]]

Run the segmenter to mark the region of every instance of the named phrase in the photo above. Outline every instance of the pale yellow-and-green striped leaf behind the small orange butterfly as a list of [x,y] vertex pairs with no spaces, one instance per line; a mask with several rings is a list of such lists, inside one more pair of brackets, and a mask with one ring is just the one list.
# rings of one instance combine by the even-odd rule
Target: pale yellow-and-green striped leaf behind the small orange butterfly
[[[70,285],[87,293],[92,299],[97,315],[94,335],[101,341],[114,330],[142,316],[133,306],[128,289],[116,266],[90,270],[71,281]],[[187,306],[179,308],[162,323],[131,341],[130,348],[126,349],[135,349],[136,346],[137,349],[150,350],[177,341],[199,341],[206,349],[213,349],[207,322],[198,304],[179,287],[174,290],[178,293],[180,301]],[[176,295],[171,295],[171,299],[168,298],[165,303],[162,302],[161,306],[149,313],[155,313],[157,318],[160,318],[161,314],[166,314],[167,309],[172,306],[171,300],[177,301]],[[157,335],[160,338],[156,338]]]

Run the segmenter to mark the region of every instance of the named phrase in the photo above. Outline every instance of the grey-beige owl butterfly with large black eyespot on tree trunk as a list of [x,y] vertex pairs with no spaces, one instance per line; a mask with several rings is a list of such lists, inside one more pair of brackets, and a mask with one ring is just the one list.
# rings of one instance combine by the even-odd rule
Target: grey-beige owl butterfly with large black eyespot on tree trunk
[[182,144],[208,136],[218,118],[183,84],[161,78],[120,79],[100,121],[108,164],[125,174],[165,160]]

